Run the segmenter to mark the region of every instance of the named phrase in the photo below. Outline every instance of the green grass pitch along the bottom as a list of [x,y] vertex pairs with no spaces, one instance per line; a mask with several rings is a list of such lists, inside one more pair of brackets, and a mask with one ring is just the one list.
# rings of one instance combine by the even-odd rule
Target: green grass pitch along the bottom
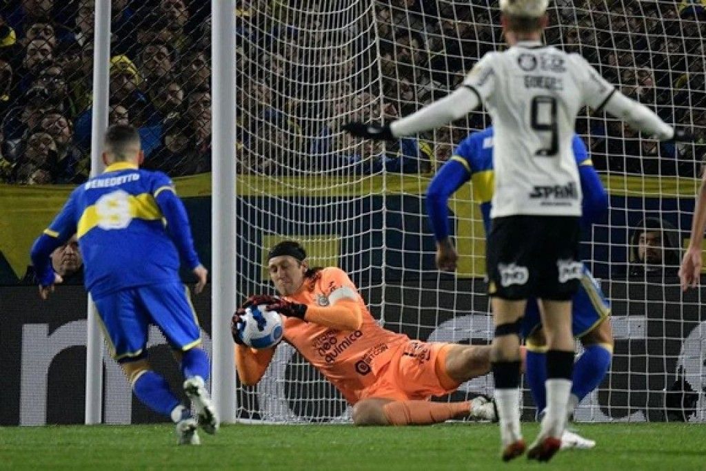
[[[591,451],[502,463],[496,424],[433,427],[226,425],[177,447],[167,424],[0,427],[0,469],[706,470],[706,425],[578,424]],[[523,424],[528,440],[537,424]]]

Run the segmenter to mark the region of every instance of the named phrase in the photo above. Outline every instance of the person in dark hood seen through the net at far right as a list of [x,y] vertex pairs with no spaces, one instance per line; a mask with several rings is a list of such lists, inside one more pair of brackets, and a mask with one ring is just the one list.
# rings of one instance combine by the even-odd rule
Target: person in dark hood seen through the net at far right
[[659,218],[640,221],[630,237],[630,277],[676,276],[681,262],[676,228]]

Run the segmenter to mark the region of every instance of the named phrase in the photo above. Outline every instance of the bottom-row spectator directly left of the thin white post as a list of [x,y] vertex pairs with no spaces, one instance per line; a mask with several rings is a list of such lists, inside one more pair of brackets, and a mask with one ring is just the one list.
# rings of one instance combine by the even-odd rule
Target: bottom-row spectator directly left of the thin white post
[[56,143],[55,183],[83,183],[90,173],[90,159],[73,144],[73,123],[58,110],[42,118],[41,130]]

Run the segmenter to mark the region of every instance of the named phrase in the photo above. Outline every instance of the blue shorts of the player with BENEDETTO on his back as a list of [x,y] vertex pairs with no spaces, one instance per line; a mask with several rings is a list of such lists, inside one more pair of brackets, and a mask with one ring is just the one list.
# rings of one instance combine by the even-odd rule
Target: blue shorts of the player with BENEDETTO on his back
[[175,350],[189,350],[201,342],[189,288],[179,282],[126,288],[93,302],[115,360],[145,356],[150,324],[162,331]]

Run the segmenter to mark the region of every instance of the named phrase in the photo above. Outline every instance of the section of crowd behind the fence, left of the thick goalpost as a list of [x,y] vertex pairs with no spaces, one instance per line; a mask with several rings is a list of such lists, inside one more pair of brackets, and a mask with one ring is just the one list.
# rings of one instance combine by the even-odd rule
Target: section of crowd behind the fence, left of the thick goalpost
[[[146,168],[210,170],[210,27],[202,2],[112,1],[109,123],[138,126]],[[80,183],[90,170],[94,0],[0,11],[0,181]]]

